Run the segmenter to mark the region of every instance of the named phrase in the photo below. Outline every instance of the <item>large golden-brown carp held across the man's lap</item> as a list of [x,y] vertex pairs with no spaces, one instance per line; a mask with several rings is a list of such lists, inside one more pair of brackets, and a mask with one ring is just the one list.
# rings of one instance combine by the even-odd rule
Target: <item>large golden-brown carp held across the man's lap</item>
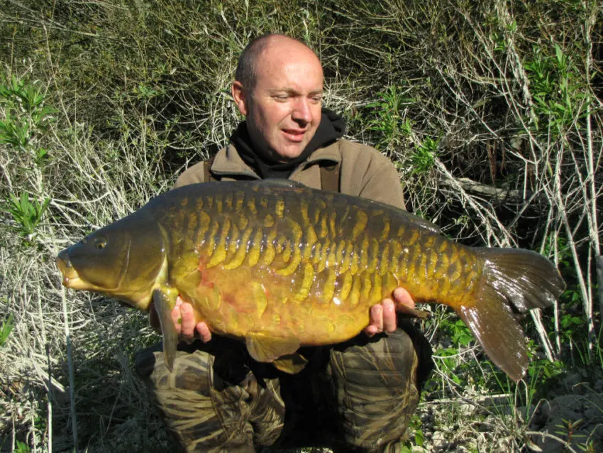
[[168,366],[177,295],[211,332],[245,339],[253,359],[294,373],[299,346],[358,334],[402,286],[453,307],[511,378],[528,365],[514,312],[546,307],[564,283],[543,256],[456,244],[419,217],[289,181],[211,182],[160,195],[63,250],[69,288],[159,314]]

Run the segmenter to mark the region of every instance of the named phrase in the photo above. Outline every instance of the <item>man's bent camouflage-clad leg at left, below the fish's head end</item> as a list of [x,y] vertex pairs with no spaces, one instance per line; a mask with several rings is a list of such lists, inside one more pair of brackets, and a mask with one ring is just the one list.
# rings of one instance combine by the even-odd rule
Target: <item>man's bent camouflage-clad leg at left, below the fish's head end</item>
[[[173,371],[160,346],[141,351],[136,371],[148,386],[165,424],[189,452],[253,452],[274,442],[284,407],[275,383],[260,388],[245,364],[229,366],[194,347],[177,351]],[[243,376],[243,377],[241,377]]]

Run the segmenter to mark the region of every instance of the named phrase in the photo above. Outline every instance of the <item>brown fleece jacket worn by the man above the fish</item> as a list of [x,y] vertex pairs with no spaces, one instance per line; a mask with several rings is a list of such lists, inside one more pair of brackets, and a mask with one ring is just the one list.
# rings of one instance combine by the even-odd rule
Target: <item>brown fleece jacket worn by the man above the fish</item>
[[[341,163],[340,191],[404,209],[404,195],[392,161],[377,150],[361,143],[340,139],[326,148],[319,148],[306,162],[294,170],[289,179],[321,189],[319,163]],[[244,178],[260,179],[230,144],[216,154],[210,171],[224,181]],[[184,171],[174,187],[204,181],[203,163]]]

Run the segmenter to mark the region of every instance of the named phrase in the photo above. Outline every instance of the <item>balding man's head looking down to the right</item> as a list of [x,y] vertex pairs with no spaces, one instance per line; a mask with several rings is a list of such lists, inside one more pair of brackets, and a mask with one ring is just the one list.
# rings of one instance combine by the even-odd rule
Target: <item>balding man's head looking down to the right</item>
[[251,140],[275,160],[296,158],[321,121],[323,70],[304,43],[283,35],[256,38],[239,58],[232,94]]

